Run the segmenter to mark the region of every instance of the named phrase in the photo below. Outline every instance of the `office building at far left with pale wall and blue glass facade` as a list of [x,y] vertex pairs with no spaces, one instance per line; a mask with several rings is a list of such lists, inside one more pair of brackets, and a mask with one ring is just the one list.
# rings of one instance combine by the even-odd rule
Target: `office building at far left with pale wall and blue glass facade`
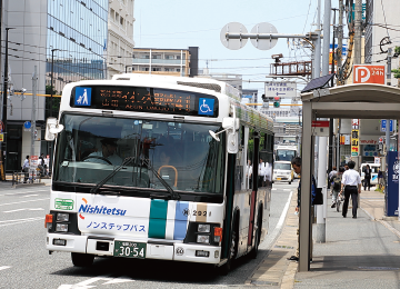
[[[128,1],[128,0],[127,0]],[[129,0],[130,1],[130,0]],[[66,83],[82,79],[106,78],[104,49],[108,38],[108,0],[6,0],[2,12],[2,40],[9,30],[9,88],[32,92],[32,72],[37,67],[38,93],[61,93]],[[1,69],[4,66],[2,46]],[[51,70],[53,81],[51,83]],[[46,89],[48,87],[48,89]],[[43,140],[46,118],[50,114],[49,98],[38,97],[38,130],[34,155],[48,155]],[[58,102],[54,98],[54,104]],[[48,108],[46,106],[48,103]],[[7,103],[7,171],[20,170],[31,151],[31,132],[23,127],[31,120],[32,97],[23,101],[9,96]],[[52,116],[57,117],[54,109]]]

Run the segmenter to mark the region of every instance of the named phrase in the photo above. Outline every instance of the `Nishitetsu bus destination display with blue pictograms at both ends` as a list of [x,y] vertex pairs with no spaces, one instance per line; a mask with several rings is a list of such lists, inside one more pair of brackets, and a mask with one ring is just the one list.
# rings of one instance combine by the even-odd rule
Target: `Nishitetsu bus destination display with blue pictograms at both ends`
[[70,104],[76,108],[104,110],[218,116],[218,99],[214,96],[146,87],[76,87]]

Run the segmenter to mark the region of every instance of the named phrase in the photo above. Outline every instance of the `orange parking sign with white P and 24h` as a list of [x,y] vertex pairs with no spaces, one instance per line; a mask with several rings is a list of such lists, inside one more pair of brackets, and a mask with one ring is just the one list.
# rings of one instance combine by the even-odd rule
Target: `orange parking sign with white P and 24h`
[[384,84],[384,66],[354,64],[353,83]]

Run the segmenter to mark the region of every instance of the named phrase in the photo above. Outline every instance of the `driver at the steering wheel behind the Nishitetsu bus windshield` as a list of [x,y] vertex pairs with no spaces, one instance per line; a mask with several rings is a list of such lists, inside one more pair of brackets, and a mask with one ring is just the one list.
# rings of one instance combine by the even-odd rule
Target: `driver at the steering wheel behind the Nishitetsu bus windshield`
[[117,140],[106,138],[100,142],[101,151],[90,153],[84,161],[120,166],[122,163],[122,159],[116,153],[118,147]]

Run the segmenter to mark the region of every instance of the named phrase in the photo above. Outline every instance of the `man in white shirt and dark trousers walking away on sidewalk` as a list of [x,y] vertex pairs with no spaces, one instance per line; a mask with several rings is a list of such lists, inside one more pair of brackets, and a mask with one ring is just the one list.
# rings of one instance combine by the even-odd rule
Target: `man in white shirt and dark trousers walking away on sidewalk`
[[344,171],[342,177],[342,186],[340,192],[344,192],[344,203],[342,216],[346,218],[347,210],[349,208],[349,199],[351,195],[352,201],[352,216],[353,219],[357,218],[357,207],[358,207],[358,195],[361,193],[361,178],[360,173],[354,170],[356,162],[349,161],[349,170]]

